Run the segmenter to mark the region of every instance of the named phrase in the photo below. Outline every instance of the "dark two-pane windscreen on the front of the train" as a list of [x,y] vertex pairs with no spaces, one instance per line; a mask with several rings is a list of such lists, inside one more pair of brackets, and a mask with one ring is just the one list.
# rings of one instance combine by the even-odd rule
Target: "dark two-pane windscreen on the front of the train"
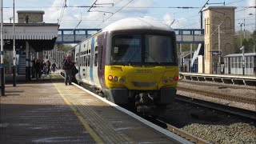
[[174,64],[176,62],[174,38],[170,35],[157,34],[116,34],[112,38],[111,63],[117,65]]

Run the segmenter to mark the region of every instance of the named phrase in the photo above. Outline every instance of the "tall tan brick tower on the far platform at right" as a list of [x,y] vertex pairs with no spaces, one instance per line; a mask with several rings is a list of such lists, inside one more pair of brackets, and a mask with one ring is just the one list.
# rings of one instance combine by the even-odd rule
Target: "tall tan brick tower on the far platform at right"
[[234,53],[235,8],[234,6],[209,6],[203,10],[205,11],[204,70],[206,74],[220,73],[222,57]]

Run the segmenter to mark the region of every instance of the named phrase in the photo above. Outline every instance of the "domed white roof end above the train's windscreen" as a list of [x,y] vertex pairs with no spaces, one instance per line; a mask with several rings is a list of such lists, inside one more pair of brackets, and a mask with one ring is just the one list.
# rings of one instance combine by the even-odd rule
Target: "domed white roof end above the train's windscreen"
[[152,18],[124,18],[106,26],[102,31],[142,29],[174,31],[170,26]]

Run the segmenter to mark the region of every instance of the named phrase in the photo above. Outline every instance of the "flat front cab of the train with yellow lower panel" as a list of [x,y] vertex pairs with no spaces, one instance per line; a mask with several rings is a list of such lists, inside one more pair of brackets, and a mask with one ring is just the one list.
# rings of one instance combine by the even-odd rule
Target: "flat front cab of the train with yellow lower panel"
[[[109,33],[104,82],[106,97],[117,104],[166,106],[178,83],[176,38],[170,31]],[[157,41],[157,42],[156,42]]]

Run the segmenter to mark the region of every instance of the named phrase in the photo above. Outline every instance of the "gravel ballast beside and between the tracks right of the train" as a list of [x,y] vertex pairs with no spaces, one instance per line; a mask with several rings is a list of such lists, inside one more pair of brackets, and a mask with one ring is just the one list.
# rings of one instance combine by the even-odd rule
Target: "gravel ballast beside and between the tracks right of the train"
[[[219,89],[218,86],[210,86],[207,83],[202,86],[186,83],[182,80],[178,86],[194,87],[195,89],[214,90],[221,93],[234,94],[241,97],[255,98],[255,90],[248,90],[246,86],[241,89],[230,88]],[[216,84],[216,83],[215,83]],[[224,84],[223,86],[225,86]],[[252,86],[250,86],[251,89]],[[255,105],[244,104],[240,102],[229,102],[218,98],[207,98],[203,95],[182,92],[178,90],[177,94],[198,98],[210,102],[218,102],[230,106],[240,107],[243,109],[255,110]],[[194,134],[199,138],[205,139],[210,143],[254,143],[256,144],[256,123],[252,120],[242,119],[240,117],[221,112],[211,111],[206,108],[195,107],[192,105],[175,102],[168,107],[165,121],[173,126]],[[196,115],[197,117],[194,117]]]

